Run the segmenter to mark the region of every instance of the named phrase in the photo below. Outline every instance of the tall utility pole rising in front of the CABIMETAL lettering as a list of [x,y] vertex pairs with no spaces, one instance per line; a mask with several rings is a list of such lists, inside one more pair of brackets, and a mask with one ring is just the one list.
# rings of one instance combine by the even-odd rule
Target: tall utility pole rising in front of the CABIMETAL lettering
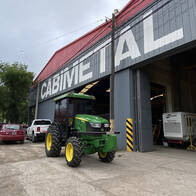
[[115,23],[116,23],[115,13],[113,13],[112,14],[112,35],[111,35],[111,75],[110,75],[110,131],[112,133],[114,133],[114,130],[115,130],[115,123],[114,123]]

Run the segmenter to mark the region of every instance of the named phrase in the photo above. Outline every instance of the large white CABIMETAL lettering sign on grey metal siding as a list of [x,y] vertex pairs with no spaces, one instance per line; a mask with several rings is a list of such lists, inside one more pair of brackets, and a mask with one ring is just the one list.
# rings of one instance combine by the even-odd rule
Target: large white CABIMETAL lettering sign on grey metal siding
[[[116,32],[116,71],[185,43],[186,30],[183,20],[178,24],[171,25],[173,20],[180,21],[179,19],[183,16],[175,15],[175,7],[172,8],[172,6],[171,8],[163,7],[157,10],[155,8],[148,10]],[[161,15],[160,13],[163,12],[166,14]],[[171,18],[171,16],[175,18]],[[111,37],[105,37],[101,43],[91,47],[72,63],[65,65],[65,68],[42,82],[40,101],[109,75],[111,65],[110,42]]]

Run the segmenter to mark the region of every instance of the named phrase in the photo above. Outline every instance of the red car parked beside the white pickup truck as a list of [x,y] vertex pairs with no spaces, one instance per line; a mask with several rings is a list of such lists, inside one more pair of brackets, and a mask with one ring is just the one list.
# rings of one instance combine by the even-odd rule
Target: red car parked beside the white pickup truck
[[20,141],[24,143],[24,130],[17,124],[3,124],[0,126],[0,141]]

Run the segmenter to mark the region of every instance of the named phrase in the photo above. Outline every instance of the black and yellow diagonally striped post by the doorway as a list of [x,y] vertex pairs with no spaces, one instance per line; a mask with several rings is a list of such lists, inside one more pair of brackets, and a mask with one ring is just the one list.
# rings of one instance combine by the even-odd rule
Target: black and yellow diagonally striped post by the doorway
[[127,151],[133,152],[133,119],[127,118],[126,120],[126,132],[127,132]]

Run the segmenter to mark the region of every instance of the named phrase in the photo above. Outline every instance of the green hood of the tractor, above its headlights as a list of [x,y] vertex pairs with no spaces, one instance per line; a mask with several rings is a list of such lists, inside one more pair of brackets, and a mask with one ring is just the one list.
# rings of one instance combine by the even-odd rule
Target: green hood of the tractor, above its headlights
[[89,123],[109,123],[105,118],[88,114],[77,114],[75,118]]

